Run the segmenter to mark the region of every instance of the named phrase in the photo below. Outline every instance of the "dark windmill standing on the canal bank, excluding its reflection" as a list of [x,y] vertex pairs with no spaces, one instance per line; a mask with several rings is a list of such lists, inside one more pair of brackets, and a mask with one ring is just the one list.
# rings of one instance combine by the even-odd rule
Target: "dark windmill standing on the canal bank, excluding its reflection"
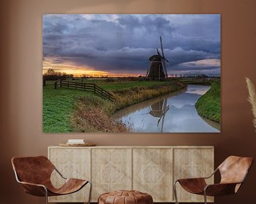
[[149,57],[149,69],[147,71],[146,77],[151,79],[166,79],[168,77],[166,71],[166,62],[169,60],[164,57],[164,48],[163,43],[160,36],[160,45],[161,45],[161,53],[159,49],[156,48],[157,55],[152,55]]

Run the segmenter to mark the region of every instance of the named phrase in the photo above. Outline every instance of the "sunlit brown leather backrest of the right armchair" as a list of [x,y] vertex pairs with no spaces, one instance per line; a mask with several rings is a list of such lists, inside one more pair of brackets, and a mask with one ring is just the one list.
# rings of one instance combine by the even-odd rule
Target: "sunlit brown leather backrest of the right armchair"
[[218,166],[221,176],[220,183],[240,183],[244,181],[250,166],[252,166],[252,162],[252,157],[228,157]]

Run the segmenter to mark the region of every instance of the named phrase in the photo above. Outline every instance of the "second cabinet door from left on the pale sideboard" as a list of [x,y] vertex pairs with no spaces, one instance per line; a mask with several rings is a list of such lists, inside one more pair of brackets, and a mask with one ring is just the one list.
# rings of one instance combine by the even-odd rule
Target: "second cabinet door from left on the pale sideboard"
[[92,200],[102,193],[132,189],[132,149],[92,149]]

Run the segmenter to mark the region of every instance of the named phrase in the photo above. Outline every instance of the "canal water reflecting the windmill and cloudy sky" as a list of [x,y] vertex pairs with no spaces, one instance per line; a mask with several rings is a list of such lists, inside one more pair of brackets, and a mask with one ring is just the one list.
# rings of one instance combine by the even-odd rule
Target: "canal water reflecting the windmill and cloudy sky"
[[220,132],[220,125],[198,115],[195,103],[210,86],[182,91],[129,106],[116,113],[131,132]]

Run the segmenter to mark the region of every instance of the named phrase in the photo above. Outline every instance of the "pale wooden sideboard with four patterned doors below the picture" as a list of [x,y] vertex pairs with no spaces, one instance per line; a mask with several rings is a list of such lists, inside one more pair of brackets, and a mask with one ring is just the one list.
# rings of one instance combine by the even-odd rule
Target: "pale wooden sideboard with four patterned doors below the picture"
[[[151,194],[154,202],[174,202],[176,179],[209,176],[214,170],[212,146],[54,146],[48,147],[48,158],[65,177],[92,181],[92,202],[102,193],[130,189]],[[55,171],[51,180],[55,186],[63,184]],[[203,196],[177,187],[178,201],[203,202]],[[68,196],[50,197],[49,202],[85,202],[88,192],[85,186]]]

